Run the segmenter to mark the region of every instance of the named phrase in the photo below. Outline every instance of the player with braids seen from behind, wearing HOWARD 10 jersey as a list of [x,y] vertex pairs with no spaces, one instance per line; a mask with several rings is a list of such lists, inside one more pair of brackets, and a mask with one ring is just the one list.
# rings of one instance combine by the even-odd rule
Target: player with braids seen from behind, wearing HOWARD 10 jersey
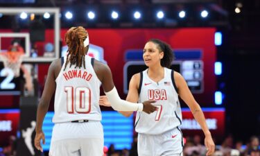
[[98,104],[101,84],[114,110],[150,114],[156,110],[151,104],[155,101],[130,103],[119,98],[110,68],[86,55],[89,36],[85,28],[70,28],[65,41],[69,46],[68,54],[51,63],[37,108],[35,147],[42,151],[40,141],[45,142],[42,123],[55,91],[55,125],[49,155],[102,156],[103,126]]

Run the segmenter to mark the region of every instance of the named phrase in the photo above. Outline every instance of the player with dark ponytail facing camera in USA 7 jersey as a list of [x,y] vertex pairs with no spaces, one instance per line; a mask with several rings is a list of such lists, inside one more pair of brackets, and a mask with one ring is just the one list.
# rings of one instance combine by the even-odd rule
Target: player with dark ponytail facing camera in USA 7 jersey
[[[126,101],[137,102],[156,100],[157,111],[150,115],[137,112],[135,130],[138,134],[137,149],[139,156],[182,155],[184,146],[180,125],[182,113],[178,96],[187,103],[194,118],[205,134],[207,155],[214,153],[205,116],[195,101],[186,81],[176,71],[168,69],[173,60],[171,46],[161,40],[149,40],[144,46],[145,71],[132,76]],[[106,96],[101,96],[102,105],[110,105]],[[112,103],[111,103],[112,104]],[[130,116],[132,112],[121,112]]]

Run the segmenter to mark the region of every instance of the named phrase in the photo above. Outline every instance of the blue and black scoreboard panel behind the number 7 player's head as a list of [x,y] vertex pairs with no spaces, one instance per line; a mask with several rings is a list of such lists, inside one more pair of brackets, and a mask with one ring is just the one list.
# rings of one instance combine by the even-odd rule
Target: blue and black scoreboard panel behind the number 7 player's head
[[[202,50],[199,49],[176,49],[175,60],[170,69],[182,74],[187,81],[191,92],[200,94],[204,92],[204,71]],[[125,52],[125,65],[123,67],[123,92],[128,93],[130,79],[135,73],[147,69],[143,61],[142,49],[128,50]]]

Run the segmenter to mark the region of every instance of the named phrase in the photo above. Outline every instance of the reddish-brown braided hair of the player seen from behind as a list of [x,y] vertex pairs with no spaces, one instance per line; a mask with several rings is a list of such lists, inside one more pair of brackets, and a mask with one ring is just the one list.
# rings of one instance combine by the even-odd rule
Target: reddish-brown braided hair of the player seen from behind
[[[69,31],[65,34],[65,42],[68,45],[68,55],[65,63],[64,70],[67,67],[67,64],[70,62],[70,66],[72,64],[76,64],[76,67],[82,67],[82,64],[85,67],[85,55],[86,50],[88,50],[88,46],[84,46],[84,41],[88,37],[88,33],[82,26],[71,27]],[[86,49],[87,48],[87,49]],[[75,68],[76,68],[75,67]]]

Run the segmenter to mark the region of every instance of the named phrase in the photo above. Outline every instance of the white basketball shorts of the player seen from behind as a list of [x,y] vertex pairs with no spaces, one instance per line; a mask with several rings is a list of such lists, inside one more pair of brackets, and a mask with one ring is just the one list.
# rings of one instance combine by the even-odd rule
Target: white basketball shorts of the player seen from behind
[[100,121],[55,123],[49,156],[103,156],[103,146]]

